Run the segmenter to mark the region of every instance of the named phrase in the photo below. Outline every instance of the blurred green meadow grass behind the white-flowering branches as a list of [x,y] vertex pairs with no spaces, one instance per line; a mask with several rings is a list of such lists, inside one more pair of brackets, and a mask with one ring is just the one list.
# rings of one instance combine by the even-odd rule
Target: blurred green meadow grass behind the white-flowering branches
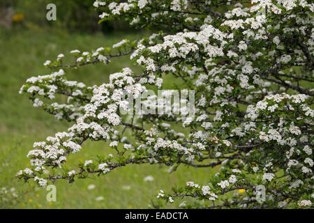
[[[29,166],[26,157],[33,141],[44,140],[55,132],[66,130],[70,123],[54,120],[53,116],[32,107],[27,97],[19,95],[20,86],[33,75],[51,72],[43,67],[46,60],[54,60],[60,53],[72,49],[90,51],[101,46],[112,46],[121,39],[135,39],[142,33],[114,33],[94,35],[83,33],[56,33],[49,31],[0,30],[0,187],[15,187],[22,196],[5,208],[148,208],[157,190],[170,190],[173,185],[183,185],[188,180],[207,183],[213,170],[179,167],[169,174],[167,167],[158,165],[132,165],[112,171],[103,177],[76,180],[69,184],[57,181],[57,202],[46,201],[47,191],[33,183],[17,182],[15,173]],[[85,84],[102,84],[110,73],[126,66],[132,67],[128,57],[114,60],[109,66],[85,66],[67,70],[67,78]],[[136,70],[136,68],[135,68]],[[167,81],[167,86],[173,79]],[[23,139],[21,141],[21,139]],[[87,160],[96,154],[109,153],[105,142],[90,142],[82,151],[69,157],[68,167],[77,160]],[[145,182],[144,177],[154,181]],[[88,185],[94,184],[94,190]],[[103,200],[96,201],[97,197]],[[1,205],[0,205],[1,207]],[[172,206],[167,206],[172,208]]]

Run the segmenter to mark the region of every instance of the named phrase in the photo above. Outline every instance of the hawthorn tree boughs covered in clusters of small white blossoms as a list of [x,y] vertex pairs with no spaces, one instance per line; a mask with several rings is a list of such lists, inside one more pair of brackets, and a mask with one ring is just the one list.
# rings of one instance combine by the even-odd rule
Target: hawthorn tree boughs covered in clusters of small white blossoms
[[[19,178],[45,186],[127,164],[218,167],[207,185],[187,179],[172,192],[160,190],[158,199],[183,199],[184,208],[313,208],[311,1],[110,0],[94,6],[103,12],[100,22],[124,17],[131,26],[160,31],[112,48],[73,50],[73,63],[60,54],[45,62],[51,75],[27,79],[20,93],[73,125],[36,142],[31,168]],[[117,56],[130,56],[142,72],[123,68],[109,83],[85,86],[63,71],[107,65]],[[181,81],[178,88],[195,92],[194,117],[121,113],[129,104],[125,92],[136,99],[149,86],[163,89],[170,75]],[[67,102],[59,104],[57,95]],[[87,140],[107,141],[114,155],[63,168]],[[54,174],[47,171],[52,168]]]

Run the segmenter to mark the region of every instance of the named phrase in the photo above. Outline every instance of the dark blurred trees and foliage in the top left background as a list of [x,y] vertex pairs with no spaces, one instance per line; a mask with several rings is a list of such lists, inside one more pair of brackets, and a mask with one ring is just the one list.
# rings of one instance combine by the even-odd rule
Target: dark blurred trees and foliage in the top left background
[[[57,6],[57,21],[47,21],[46,6]],[[27,29],[66,29],[69,32],[130,31],[124,21],[98,24],[98,13],[93,7],[94,0],[1,0],[0,26],[18,26]]]

